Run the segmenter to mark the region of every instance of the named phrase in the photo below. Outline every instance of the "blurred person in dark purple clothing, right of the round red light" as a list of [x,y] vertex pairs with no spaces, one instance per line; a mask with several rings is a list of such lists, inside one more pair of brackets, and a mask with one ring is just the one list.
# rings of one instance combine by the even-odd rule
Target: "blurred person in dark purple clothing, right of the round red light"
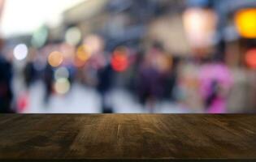
[[142,104],[154,113],[154,107],[159,99],[163,99],[165,92],[165,81],[167,79],[166,69],[163,67],[163,46],[154,42],[150,52],[145,54],[144,61],[139,69],[138,93]]

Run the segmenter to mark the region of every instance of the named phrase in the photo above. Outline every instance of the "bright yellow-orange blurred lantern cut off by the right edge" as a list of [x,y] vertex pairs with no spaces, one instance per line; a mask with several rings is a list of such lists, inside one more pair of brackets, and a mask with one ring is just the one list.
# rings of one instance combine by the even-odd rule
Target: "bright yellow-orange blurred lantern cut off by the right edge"
[[237,11],[235,23],[241,36],[245,38],[256,38],[256,8]]

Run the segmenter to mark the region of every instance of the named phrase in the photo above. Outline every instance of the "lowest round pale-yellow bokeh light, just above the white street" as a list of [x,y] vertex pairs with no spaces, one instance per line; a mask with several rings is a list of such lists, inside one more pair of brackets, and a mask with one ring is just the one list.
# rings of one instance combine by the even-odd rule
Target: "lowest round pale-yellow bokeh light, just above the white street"
[[70,83],[68,79],[57,79],[54,83],[55,92],[59,95],[64,95],[70,90]]

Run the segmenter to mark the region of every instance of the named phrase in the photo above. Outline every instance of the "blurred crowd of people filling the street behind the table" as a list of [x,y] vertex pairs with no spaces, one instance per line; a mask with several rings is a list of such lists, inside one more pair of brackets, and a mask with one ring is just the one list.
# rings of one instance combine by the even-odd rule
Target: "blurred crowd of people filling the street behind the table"
[[[93,36],[94,39],[103,45],[99,36]],[[67,95],[75,82],[98,90],[102,96],[103,113],[113,113],[106,98],[114,87],[127,89],[151,113],[161,100],[197,108],[198,112],[200,109],[207,113],[227,111],[227,96],[233,79],[231,71],[222,62],[172,57],[157,41],[149,49],[119,46],[112,53],[106,52],[101,45],[99,49],[90,49],[86,43],[76,48],[63,42],[49,42],[39,50],[29,49],[20,73],[26,86],[24,92],[38,80],[43,81],[47,107],[50,96]],[[13,68],[2,55],[2,113],[22,112],[27,106],[28,99],[22,96],[12,102]]]

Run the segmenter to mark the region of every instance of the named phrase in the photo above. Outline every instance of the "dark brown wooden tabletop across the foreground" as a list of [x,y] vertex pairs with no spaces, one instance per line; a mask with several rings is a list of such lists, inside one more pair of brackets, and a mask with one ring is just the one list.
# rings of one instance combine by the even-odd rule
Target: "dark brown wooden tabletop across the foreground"
[[0,114],[0,161],[96,159],[256,159],[256,116]]

